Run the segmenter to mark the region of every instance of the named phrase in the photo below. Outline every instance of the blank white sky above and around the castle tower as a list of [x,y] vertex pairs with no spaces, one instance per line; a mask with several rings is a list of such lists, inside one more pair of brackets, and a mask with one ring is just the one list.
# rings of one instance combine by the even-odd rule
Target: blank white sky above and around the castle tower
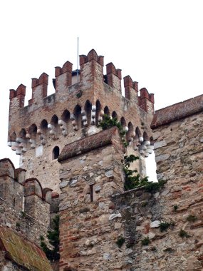
[[77,68],[77,37],[79,54],[94,48],[155,93],[155,109],[202,94],[202,11],[202,0],[1,0],[0,158],[19,165],[7,147],[9,89],[23,83],[27,101],[46,72],[53,93],[54,67]]

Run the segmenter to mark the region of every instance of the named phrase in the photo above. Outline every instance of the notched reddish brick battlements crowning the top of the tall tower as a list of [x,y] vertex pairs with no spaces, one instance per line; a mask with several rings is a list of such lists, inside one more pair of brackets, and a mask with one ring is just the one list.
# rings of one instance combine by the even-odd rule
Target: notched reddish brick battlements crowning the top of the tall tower
[[[78,88],[75,87],[76,88],[75,92],[77,92],[79,88],[84,87],[86,82],[83,82],[83,81],[85,80],[84,79],[85,73],[86,73],[85,70],[87,69],[87,67],[85,67],[85,64],[94,61],[95,63],[98,63],[101,67],[103,67],[104,65],[103,60],[104,60],[104,57],[98,56],[98,54],[93,49],[88,53],[87,56],[80,55],[80,70],[78,71],[80,80],[78,82],[76,82],[77,72],[72,71],[73,64],[71,62],[66,61],[66,63],[63,64],[62,68],[60,66],[56,66],[55,67],[56,78],[53,79],[56,93],[58,93],[58,95],[56,95],[56,101],[61,100],[59,92],[63,92],[63,94],[67,92],[66,98],[68,99],[68,94],[69,96],[71,96],[71,93],[74,92],[74,88],[71,88],[69,90],[67,90],[67,88],[75,85],[75,83],[78,83],[79,85]],[[106,74],[103,74],[103,68],[101,69],[102,71],[101,73],[100,71],[98,71],[97,68],[91,66],[90,71],[88,71],[88,75],[92,78],[92,81],[95,81],[95,79],[98,79],[98,76],[96,76],[97,74],[94,71],[94,69],[95,71],[97,70],[98,76],[100,76],[100,79],[102,81],[107,83],[108,86],[111,86],[115,90],[120,91],[121,93],[122,73],[121,73],[120,68],[115,68],[112,62],[108,63],[106,65]],[[125,98],[127,98],[127,100],[131,100],[131,98],[133,97],[133,95],[130,95],[130,93],[133,92],[132,89],[134,89],[138,93],[138,83],[136,81],[133,82],[130,76],[125,76],[123,79],[124,79],[124,86],[125,86]],[[39,78],[32,78],[31,80],[32,80],[31,81],[32,98],[31,100],[28,101],[28,106],[32,106],[33,103],[44,106],[43,98],[48,98],[47,97],[48,74],[42,73],[41,76],[39,76]],[[19,103],[19,108],[24,107],[24,103],[23,103],[24,96],[26,96],[26,86],[24,86],[23,84],[21,84],[16,89],[16,91],[14,89],[10,90],[11,103],[13,99],[21,100],[21,103]],[[149,94],[148,95],[143,94],[143,91],[140,90],[141,100],[143,100],[143,98],[147,98],[149,101],[154,103],[154,101],[152,101],[152,99],[150,99],[148,96]],[[64,98],[64,95],[63,95],[63,98]],[[132,98],[132,102],[134,102],[133,98]],[[145,106],[140,106],[140,108],[142,108],[145,111],[147,110]],[[28,111],[34,111],[34,110],[36,110],[36,107],[34,107],[33,110],[30,109]]]

